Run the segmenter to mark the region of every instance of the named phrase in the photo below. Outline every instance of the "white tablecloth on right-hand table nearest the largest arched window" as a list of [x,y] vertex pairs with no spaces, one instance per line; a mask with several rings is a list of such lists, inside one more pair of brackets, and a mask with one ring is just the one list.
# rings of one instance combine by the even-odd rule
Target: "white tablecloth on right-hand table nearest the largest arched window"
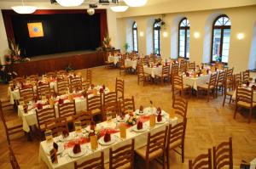
[[200,77],[183,76],[183,84],[189,85],[197,90],[197,86],[209,82],[211,75],[201,75]]

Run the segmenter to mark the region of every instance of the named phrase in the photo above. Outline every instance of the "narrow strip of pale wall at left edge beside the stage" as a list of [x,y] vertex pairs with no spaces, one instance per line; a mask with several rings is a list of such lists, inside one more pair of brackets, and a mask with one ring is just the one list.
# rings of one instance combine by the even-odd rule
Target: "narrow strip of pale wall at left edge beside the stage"
[[2,12],[0,12],[0,63],[4,64],[4,54],[6,54],[8,49],[8,41],[6,37],[6,31],[3,23],[3,15]]

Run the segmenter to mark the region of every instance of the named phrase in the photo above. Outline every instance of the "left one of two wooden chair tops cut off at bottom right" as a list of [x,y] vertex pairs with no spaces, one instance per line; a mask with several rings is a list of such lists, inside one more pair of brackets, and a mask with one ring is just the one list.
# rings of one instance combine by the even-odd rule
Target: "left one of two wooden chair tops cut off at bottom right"
[[195,157],[194,161],[189,160],[189,169],[212,169],[212,150],[208,149],[208,154],[201,154]]

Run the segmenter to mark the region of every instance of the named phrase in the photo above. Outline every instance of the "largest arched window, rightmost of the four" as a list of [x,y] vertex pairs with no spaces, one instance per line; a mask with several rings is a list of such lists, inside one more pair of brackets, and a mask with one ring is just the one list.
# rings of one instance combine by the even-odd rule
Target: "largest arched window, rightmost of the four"
[[231,22],[227,15],[220,15],[212,25],[211,60],[228,63]]

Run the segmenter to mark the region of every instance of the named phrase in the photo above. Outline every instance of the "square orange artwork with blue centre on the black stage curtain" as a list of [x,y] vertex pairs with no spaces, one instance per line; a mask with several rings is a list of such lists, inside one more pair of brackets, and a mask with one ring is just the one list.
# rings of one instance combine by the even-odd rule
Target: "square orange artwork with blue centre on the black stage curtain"
[[29,37],[44,37],[42,22],[27,23]]

